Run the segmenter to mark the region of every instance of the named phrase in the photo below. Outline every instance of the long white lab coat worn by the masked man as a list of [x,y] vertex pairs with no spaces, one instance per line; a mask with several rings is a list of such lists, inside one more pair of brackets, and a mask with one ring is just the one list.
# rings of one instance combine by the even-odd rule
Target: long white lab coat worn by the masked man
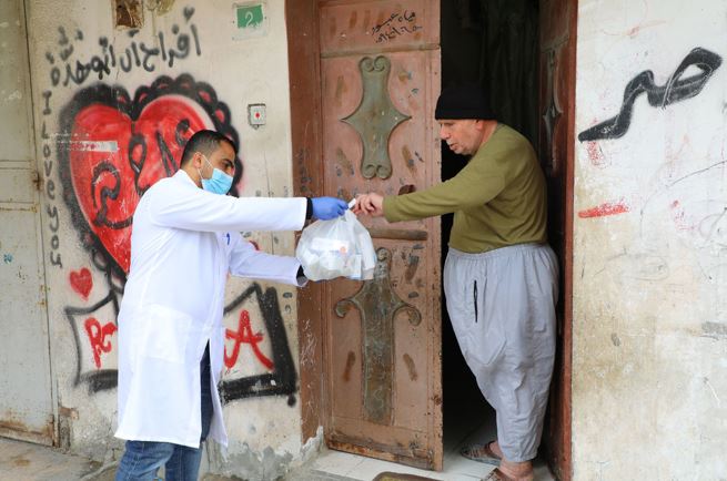
[[115,437],[199,448],[200,360],[210,342],[214,416],[224,354],[228,274],[299,285],[294,257],[256,252],[241,231],[297,231],[305,198],[235,198],[199,188],[184,171],[154,184],[133,217],[131,269],[119,313]]

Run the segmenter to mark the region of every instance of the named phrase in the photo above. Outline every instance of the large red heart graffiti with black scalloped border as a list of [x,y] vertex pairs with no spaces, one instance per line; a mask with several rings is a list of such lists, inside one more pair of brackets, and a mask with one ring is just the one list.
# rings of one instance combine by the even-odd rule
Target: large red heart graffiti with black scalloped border
[[[99,84],[63,109],[58,147],[64,199],[84,244],[105,253],[117,274],[129,272],[131,222],[141,195],[178,171],[194,132],[213,129],[238,142],[229,119],[212,88],[190,75],[160,78],[139,89],[133,101],[120,88]],[[236,174],[235,184],[239,180]]]

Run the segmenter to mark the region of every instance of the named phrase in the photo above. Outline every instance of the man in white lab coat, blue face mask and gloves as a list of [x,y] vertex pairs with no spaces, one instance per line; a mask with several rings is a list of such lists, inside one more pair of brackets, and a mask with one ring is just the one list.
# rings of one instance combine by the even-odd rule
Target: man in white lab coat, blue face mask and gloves
[[131,268],[119,313],[117,480],[196,480],[208,433],[225,444],[216,390],[224,354],[228,274],[301,286],[294,257],[255,250],[242,231],[296,231],[334,218],[332,197],[236,198],[234,143],[213,131],[186,143],[180,170],[143,195],[133,216]]

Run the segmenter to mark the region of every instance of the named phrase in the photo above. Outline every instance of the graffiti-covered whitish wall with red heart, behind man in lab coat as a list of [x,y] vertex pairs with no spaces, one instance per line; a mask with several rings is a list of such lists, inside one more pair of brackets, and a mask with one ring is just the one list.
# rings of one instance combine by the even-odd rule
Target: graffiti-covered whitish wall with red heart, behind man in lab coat
[[[133,14],[111,0],[26,0],[52,369],[62,441],[74,452],[109,460],[121,446],[114,321],[128,219],[138,190],[175,171],[184,120],[240,141],[241,195],[292,193],[284,2],[262,3],[262,31],[246,34],[226,0],[145,1],[138,30],[115,27],[115,16]],[[248,105],[258,103],[267,123],[253,129]],[[100,160],[107,167],[94,172]],[[293,254],[292,233],[245,235]],[[228,303],[231,442],[210,449],[211,469],[272,479],[302,456],[295,290],[231,280]]]

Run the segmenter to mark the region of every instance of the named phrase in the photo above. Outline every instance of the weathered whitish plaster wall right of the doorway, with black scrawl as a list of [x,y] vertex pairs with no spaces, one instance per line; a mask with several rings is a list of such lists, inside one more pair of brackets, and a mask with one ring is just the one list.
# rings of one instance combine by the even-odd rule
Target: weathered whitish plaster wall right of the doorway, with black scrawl
[[727,8],[580,1],[577,51],[575,479],[724,479]]

